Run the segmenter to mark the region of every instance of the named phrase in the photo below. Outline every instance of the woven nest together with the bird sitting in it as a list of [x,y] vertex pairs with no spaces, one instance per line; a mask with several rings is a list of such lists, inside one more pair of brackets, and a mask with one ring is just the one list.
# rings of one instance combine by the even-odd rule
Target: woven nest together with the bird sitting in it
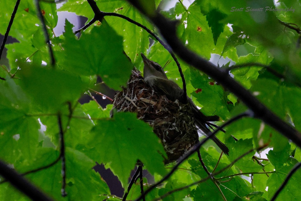
[[[172,80],[157,62],[149,60],[141,53],[143,75],[133,71],[126,88],[115,94],[113,108],[117,111],[136,112],[139,119],[149,123],[168,155],[165,163],[177,160],[198,142],[197,130],[204,135],[211,133],[207,124],[218,121],[218,116],[204,115]],[[216,136],[211,138],[226,154],[228,147]]]

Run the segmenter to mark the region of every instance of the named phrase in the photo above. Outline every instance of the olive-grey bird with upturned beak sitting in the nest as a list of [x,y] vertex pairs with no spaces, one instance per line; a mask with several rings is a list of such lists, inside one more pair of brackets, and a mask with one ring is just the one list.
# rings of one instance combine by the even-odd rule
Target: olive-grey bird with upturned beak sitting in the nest
[[[144,82],[147,83],[151,88],[162,96],[166,96],[170,101],[178,100],[181,103],[186,103],[183,98],[184,90],[178,86],[172,80],[169,80],[166,76],[164,69],[155,61],[149,60],[144,54],[141,53],[141,57],[144,63],[143,77]],[[187,104],[191,107],[191,111],[194,115],[194,120],[197,128],[202,130],[205,136],[208,136],[211,131],[207,127],[208,121],[219,121],[219,116],[206,116],[204,115],[194,104],[194,102],[187,96]],[[228,147],[222,143],[216,136],[211,138],[219,148],[228,155]]]

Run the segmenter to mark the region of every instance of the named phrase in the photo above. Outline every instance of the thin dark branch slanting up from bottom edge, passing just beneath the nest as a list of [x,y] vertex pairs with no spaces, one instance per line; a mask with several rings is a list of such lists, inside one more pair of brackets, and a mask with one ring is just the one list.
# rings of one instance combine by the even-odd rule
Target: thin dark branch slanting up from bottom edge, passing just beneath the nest
[[[244,112],[240,115],[237,115],[231,119],[229,119],[225,124],[223,124],[220,129],[224,128],[225,126],[227,126],[228,124],[233,123],[234,121],[246,117],[246,116],[250,116],[251,114],[249,112]],[[252,115],[251,115],[252,116]],[[182,162],[184,162],[189,156],[191,156],[194,152],[196,152],[198,149],[200,149],[200,147],[207,142],[207,140],[209,140],[210,138],[212,138],[217,132],[219,131],[219,129],[216,129],[213,133],[208,133],[208,137],[206,137],[205,139],[203,139],[202,141],[198,142],[196,145],[194,145],[194,147],[192,149],[190,149],[186,154],[184,154],[179,160],[178,162],[175,164],[175,166],[172,168],[172,170],[167,173],[160,181],[158,181],[157,183],[155,183],[153,186],[149,187],[145,192],[144,195],[141,195],[140,197],[138,197],[135,201],[141,200],[142,196],[147,195],[147,193],[151,192],[151,190],[155,189],[157,186],[159,186],[160,184],[162,184],[164,181],[166,181],[173,173],[175,170],[177,170],[178,166],[182,164]]]

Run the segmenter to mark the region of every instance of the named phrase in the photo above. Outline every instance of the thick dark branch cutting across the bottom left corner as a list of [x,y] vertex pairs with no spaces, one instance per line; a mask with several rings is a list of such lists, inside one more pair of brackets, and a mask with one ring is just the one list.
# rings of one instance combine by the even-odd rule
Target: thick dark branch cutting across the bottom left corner
[[31,182],[25,179],[21,174],[13,168],[8,167],[3,161],[0,160],[0,174],[9,181],[14,187],[28,196],[34,201],[52,201],[51,198],[46,196],[41,190],[35,187]]

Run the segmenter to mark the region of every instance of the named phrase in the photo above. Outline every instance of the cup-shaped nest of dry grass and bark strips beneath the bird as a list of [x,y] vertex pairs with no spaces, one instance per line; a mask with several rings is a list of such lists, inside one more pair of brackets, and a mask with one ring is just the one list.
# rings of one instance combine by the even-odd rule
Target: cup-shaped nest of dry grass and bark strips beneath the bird
[[168,158],[176,161],[198,142],[194,117],[188,104],[170,101],[148,86],[136,69],[127,88],[115,94],[113,108],[117,111],[136,112],[138,119],[149,123],[161,139]]

